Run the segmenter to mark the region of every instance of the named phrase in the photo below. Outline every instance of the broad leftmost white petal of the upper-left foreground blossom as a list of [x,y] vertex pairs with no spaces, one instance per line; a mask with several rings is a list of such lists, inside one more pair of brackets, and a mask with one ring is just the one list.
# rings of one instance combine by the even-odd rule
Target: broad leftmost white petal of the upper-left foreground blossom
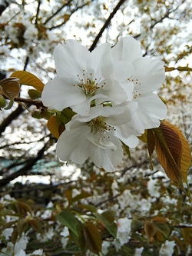
[[73,86],[71,79],[61,77],[48,81],[41,98],[46,107],[59,111],[86,100],[81,88]]

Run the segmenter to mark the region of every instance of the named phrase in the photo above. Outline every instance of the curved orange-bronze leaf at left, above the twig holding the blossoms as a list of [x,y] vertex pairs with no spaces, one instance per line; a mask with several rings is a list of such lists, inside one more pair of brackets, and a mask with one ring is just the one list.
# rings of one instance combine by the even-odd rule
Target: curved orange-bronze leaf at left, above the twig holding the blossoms
[[28,71],[15,71],[12,73],[11,77],[18,78],[22,85],[30,85],[39,92],[43,91],[44,83]]

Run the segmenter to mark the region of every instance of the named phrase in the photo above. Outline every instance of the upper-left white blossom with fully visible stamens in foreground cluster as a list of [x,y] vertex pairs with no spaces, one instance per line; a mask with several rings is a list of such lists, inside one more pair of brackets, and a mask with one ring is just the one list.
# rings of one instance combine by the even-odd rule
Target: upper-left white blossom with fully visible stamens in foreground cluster
[[[54,51],[58,77],[45,85],[43,104],[58,111],[71,107],[78,114],[88,115],[93,101],[95,105],[104,101],[117,104],[125,101],[127,95],[112,78],[114,68],[110,52],[110,44],[102,44],[93,52],[75,40],[58,44]],[[129,89],[130,98],[132,90],[133,86]]]

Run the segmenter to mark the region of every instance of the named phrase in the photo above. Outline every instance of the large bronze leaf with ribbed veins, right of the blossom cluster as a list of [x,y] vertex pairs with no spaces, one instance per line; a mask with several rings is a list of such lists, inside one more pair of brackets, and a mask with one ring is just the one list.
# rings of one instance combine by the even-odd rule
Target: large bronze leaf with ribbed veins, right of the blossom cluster
[[190,168],[190,147],[184,135],[169,122],[161,122],[160,128],[154,129],[157,156],[167,176],[176,181],[183,189],[187,184],[187,171]]

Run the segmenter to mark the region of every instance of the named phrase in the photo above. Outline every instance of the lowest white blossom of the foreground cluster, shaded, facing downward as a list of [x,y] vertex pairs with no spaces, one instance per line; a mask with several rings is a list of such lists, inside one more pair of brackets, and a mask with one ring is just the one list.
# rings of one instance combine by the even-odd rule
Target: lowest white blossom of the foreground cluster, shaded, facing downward
[[58,157],[62,161],[71,160],[78,165],[90,158],[98,168],[114,171],[123,158],[123,148],[116,127],[129,121],[132,111],[131,108],[124,110],[123,105],[100,106],[91,108],[91,114],[87,117],[74,115],[58,138]]

